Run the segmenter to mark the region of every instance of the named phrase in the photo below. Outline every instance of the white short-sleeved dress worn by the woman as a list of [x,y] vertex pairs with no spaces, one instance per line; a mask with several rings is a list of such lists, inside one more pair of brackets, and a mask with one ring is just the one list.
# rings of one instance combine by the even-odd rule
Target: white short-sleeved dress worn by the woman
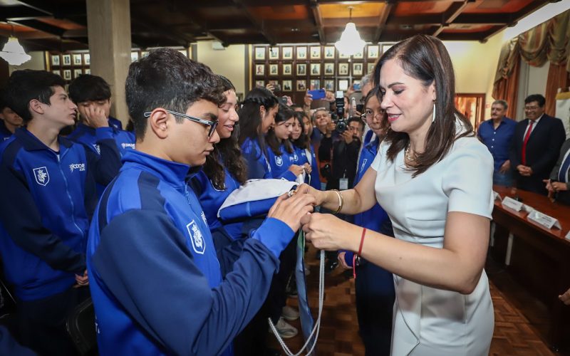
[[[458,126],[460,129],[461,127]],[[403,151],[386,159],[388,142],[371,167],[376,199],[397,239],[442,248],[448,211],[491,218],[493,159],[475,137],[455,141],[444,159],[412,179]],[[422,286],[394,275],[392,355],[488,355],[494,313],[487,275],[470,295]]]

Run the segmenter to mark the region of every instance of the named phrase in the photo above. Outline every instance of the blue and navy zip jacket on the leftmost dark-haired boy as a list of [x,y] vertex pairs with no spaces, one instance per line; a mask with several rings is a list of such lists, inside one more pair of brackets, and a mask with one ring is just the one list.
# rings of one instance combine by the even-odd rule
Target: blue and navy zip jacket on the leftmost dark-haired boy
[[86,269],[95,182],[110,182],[120,167],[115,142],[98,134],[100,157],[64,137],[56,153],[26,129],[0,145],[0,251],[21,300],[61,293]]

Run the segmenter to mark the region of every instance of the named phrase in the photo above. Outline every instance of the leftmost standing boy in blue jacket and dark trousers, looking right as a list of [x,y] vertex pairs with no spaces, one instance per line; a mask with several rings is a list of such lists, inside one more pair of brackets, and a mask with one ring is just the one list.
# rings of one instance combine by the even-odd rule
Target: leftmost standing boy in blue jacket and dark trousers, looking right
[[88,295],[85,248],[95,208],[95,182],[118,173],[110,132],[98,129],[100,156],[60,137],[76,105],[65,82],[44,70],[17,70],[8,105],[24,120],[0,145],[0,251],[14,285],[23,342],[45,355],[74,352],[66,335],[68,311]]

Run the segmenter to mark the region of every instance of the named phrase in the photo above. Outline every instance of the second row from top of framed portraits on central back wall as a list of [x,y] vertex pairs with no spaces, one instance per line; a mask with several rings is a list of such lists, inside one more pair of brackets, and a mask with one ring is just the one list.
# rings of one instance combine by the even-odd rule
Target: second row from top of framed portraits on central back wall
[[[281,63],[272,64],[256,64],[255,65],[255,76],[263,77],[269,76],[279,76],[279,75],[309,75],[309,76],[320,76],[323,75],[364,75],[366,73],[371,73],[374,69],[375,63],[296,63],[295,71],[293,71],[293,63]],[[366,72],[365,70],[366,66]]]

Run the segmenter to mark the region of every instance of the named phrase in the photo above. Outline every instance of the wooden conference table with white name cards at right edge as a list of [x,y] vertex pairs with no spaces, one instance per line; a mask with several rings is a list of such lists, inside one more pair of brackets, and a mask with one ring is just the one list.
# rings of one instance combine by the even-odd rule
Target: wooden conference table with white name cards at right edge
[[558,295],[570,288],[570,240],[565,238],[567,234],[570,238],[570,206],[532,192],[499,186],[493,189],[500,199],[514,198],[559,221],[561,229],[548,229],[529,220],[528,211],[515,211],[497,198],[492,215],[497,228],[489,253],[546,305],[549,328],[542,336],[554,350],[564,349],[570,343],[570,305],[561,303]]

